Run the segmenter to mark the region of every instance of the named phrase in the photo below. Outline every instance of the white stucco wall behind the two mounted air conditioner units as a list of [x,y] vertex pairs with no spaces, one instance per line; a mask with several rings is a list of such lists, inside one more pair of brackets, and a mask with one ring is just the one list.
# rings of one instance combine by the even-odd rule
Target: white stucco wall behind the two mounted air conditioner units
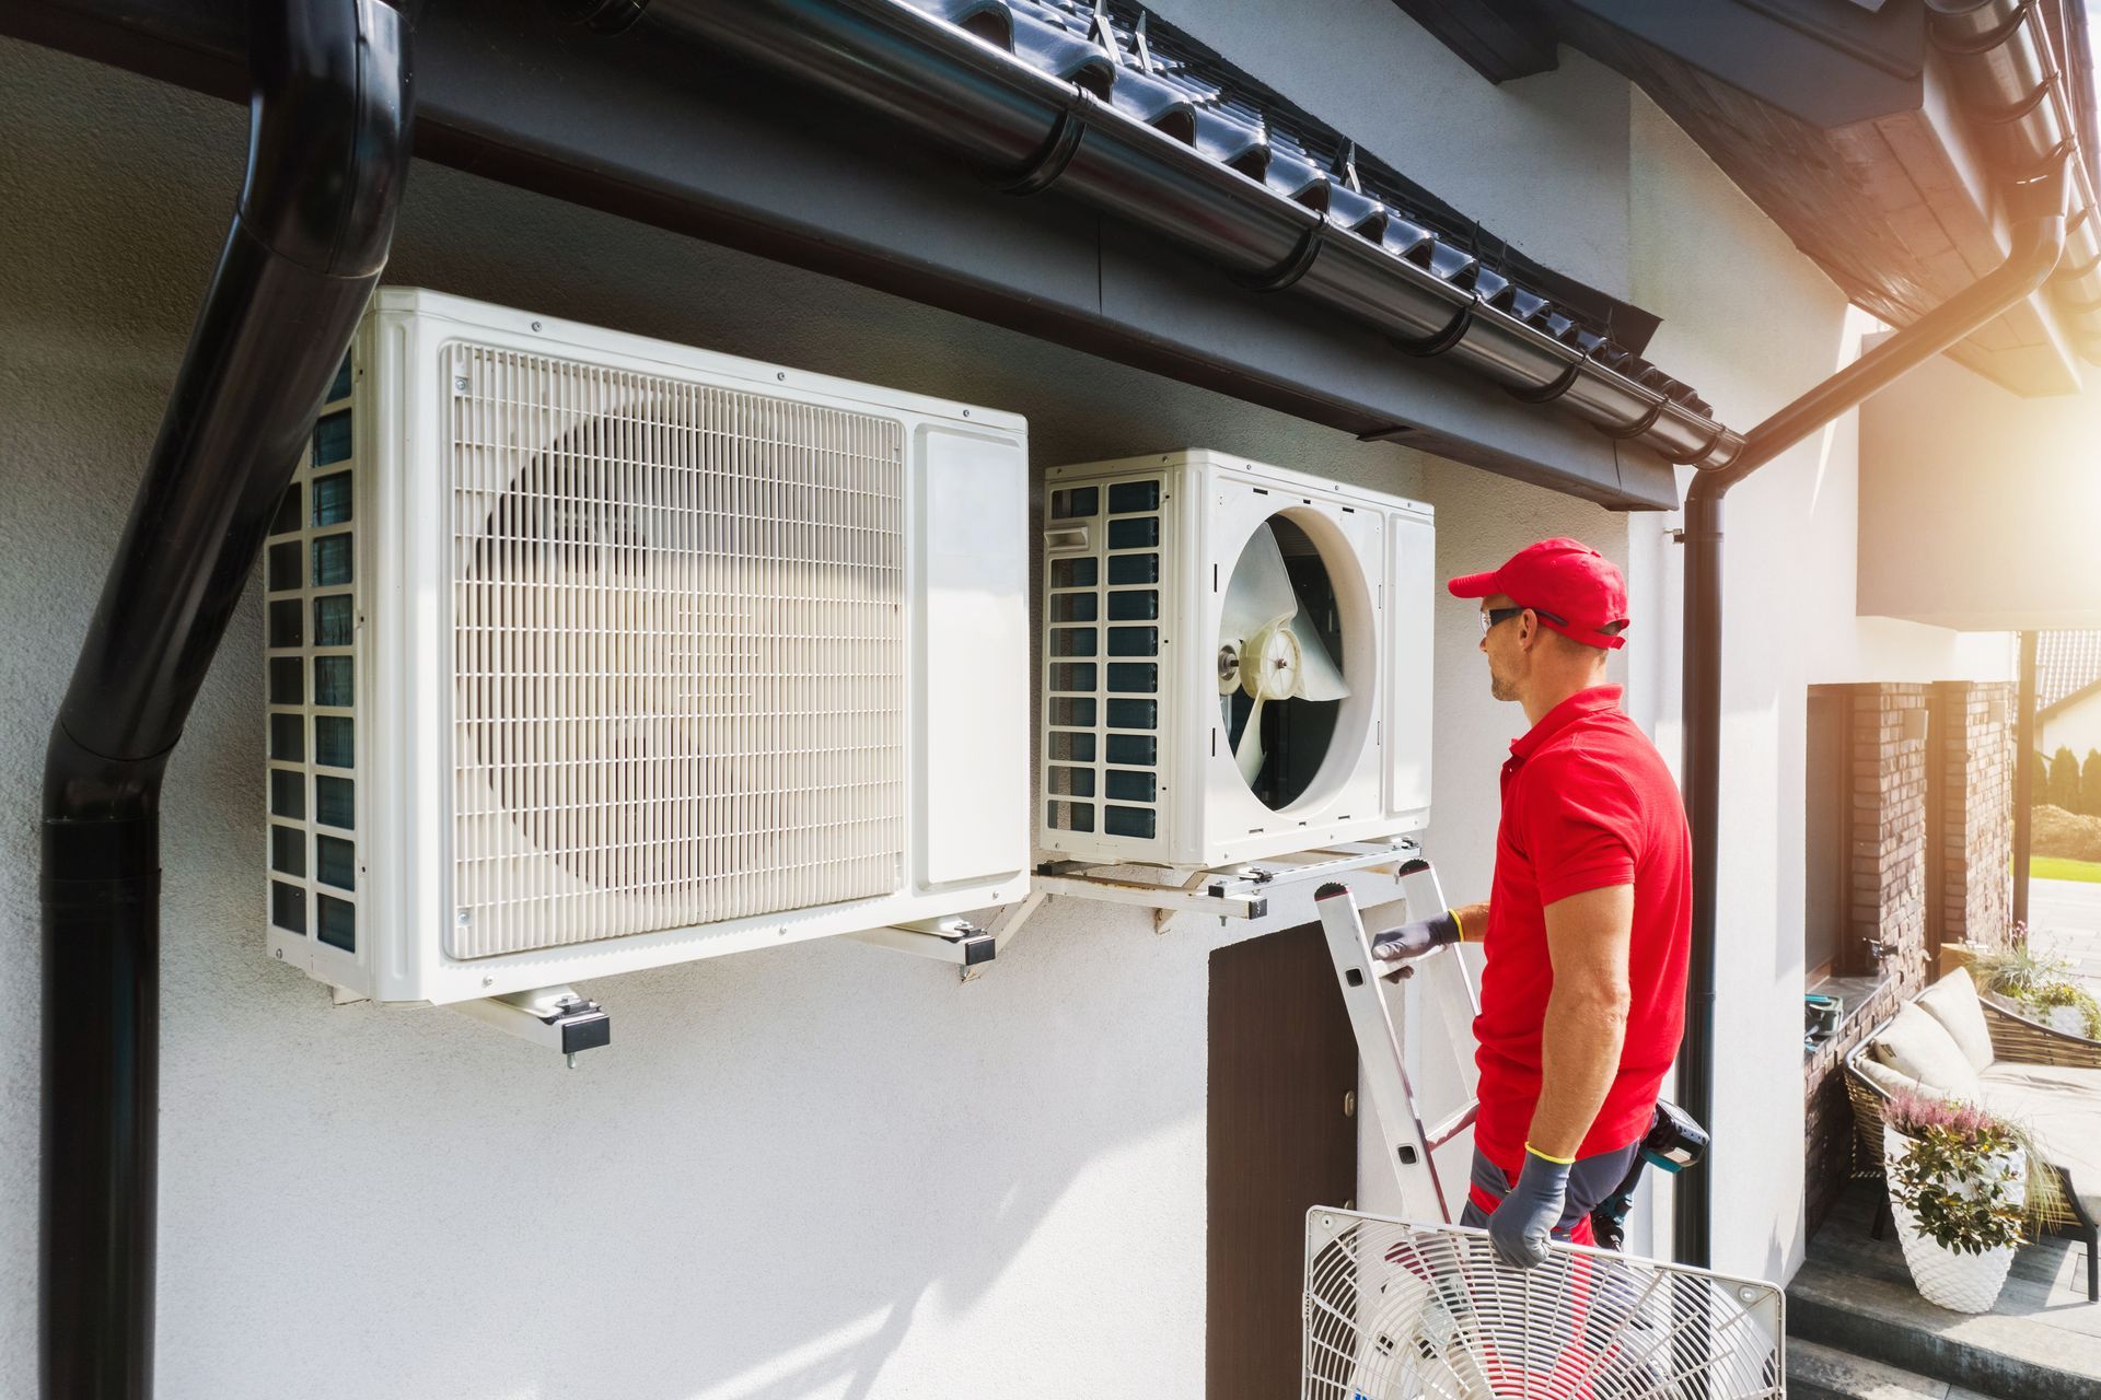
[[[36,796],[244,162],[242,109],[0,42],[0,1356],[36,1337]],[[389,277],[1017,409],[1032,458],[1204,443],[1439,506],[1439,565],[1595,506],[418,164]],[[261,953],[256,600],[166,787],[160,1394],[1198,1396],[1206,959],[1053,905],[958,987],[826,942],[588,987],[578,1073]],[[1521,726],[1439,611],[1433,854],[1479,896]],[[27,1385],[0,1371],[0,1396]]]

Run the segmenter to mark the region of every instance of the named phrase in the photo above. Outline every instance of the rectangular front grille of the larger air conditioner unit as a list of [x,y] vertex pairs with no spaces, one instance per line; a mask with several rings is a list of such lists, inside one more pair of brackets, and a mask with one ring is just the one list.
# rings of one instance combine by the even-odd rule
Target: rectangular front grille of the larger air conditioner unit
[[891,894],[889,418],[450,351],[454,957]]

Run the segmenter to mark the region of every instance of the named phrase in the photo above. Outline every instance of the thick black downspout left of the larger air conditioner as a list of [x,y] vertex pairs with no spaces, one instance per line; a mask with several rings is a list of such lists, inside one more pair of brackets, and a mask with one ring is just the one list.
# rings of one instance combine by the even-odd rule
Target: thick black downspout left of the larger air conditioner
[[160,783],[393,239],[410,25],[250,10],[248,178],[44,756],[46,1400],[153,1385]]

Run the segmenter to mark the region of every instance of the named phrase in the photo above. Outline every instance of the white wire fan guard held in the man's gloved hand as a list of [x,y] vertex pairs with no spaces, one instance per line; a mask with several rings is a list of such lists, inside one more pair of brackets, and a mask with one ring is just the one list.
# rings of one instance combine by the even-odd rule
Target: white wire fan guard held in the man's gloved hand
[[1769,1282],[1488,1234],[1307,1215],[1303,1400],[1784,1400]]

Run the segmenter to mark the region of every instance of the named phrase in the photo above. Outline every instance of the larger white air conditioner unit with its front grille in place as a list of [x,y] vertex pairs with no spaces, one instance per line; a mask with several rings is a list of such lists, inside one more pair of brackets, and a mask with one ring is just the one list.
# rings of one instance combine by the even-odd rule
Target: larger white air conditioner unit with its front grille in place
[[1025,432],[382,290],[267,548],[271,955],[460,1001],[1021,898]]

